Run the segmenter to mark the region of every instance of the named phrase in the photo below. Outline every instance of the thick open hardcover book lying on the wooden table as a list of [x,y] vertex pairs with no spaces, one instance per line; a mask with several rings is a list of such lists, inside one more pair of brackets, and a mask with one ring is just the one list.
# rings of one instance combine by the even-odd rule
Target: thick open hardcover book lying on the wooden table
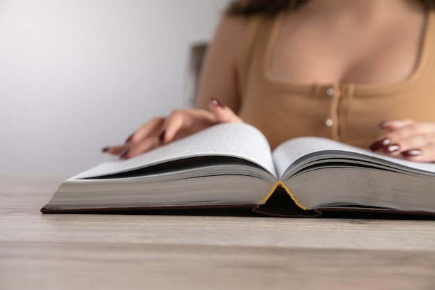
[[317,137],[288,140],[270,152],[256,128],[227,123],[67,179],[41,211],[251,207],[288,216],[337,209],[432,214],[434,188],[433,163]]

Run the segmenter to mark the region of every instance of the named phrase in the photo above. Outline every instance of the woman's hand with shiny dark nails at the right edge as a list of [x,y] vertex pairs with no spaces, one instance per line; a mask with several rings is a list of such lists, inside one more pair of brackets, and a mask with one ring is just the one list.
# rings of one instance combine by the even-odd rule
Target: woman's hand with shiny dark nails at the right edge
[[384,134],[370,145],[372,151],[411,161],[435,161],[435,123],[405,119],[382,122],[379,127]]

